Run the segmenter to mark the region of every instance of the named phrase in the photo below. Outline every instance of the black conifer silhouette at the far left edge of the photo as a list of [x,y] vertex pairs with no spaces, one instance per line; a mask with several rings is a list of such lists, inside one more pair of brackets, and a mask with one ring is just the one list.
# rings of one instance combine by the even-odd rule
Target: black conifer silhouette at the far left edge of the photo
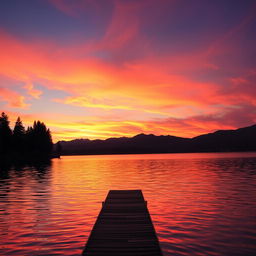
[[11,150],[12,130],[9,127],[9,118],[2,112],[0,117],[0,153],[6,154]]

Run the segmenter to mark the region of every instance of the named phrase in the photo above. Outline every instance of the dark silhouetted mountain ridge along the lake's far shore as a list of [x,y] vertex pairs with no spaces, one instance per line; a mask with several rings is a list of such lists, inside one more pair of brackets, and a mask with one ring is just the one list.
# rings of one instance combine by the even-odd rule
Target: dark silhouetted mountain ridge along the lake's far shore
[[132,138],[60,141],[62,155],[256,151],[256,125],[194,138],[138,134]]

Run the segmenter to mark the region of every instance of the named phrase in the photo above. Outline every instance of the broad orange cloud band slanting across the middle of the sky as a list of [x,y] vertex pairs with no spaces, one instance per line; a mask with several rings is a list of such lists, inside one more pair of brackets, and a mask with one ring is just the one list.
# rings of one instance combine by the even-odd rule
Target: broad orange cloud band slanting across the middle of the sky
[[63,54],[63,50],[59,54],[55,49],[54,56],[54,46],[24,44],[5,35],[0,37],[1,49],[5,49],[1,51],[1,73],[24,81],[34,97],[41,92],[27,84],[28,80],[68,92],[73,95],[64,101],[68,104],[82,101],[86,107],[94,104],[103,109],[140,107],[160,112],[176,105],[208,104],[218,89],[214,84],[170,74],[174,63],[170,63],[168,70],[152,64],[157,60],[117,67],[95,58],[74,59]]

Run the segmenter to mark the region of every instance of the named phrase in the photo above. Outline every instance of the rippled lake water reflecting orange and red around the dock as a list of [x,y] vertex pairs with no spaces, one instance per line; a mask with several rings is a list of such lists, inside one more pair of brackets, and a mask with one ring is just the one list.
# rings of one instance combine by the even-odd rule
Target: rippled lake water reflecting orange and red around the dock
[[70,156],[0,177],[0,255],[81,255],[110,189],[142,189],[165,256],[256,255],[256,153]]

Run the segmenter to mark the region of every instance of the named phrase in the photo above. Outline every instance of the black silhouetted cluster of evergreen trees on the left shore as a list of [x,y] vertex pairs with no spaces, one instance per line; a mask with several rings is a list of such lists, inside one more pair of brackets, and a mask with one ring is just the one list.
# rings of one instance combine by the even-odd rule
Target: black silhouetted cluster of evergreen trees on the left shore
[[14,129],[10,128],[8,116],[0,116],[0,158],[7,160],[29,160],[50,158],[53,143],[50,130],[41,121],[25,129],[20,117]]

